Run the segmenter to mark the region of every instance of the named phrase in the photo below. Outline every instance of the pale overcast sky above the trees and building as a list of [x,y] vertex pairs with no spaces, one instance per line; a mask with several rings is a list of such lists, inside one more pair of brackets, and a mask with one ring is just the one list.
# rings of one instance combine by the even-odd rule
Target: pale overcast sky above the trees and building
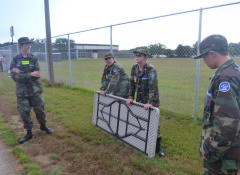
[[[232,0],[49,0],[51,36],[110,26],[128,21],[163,16],[240,1]],[[44,0],[0,0],[0,43],[22,36],[44,39]],[[222,34],[229,42],[240,42],[240,3],[203,10],[201,38]],[[175,49],[192,46],[199,35],[199,12],[185,13],[112,27],[112,43],[131,49],[161,43]],[[110,27],[69,35],[76,43],[110,44]],[[61,36],[67,38],[66,36]],[[52,42],[57,37],[52,39]]]

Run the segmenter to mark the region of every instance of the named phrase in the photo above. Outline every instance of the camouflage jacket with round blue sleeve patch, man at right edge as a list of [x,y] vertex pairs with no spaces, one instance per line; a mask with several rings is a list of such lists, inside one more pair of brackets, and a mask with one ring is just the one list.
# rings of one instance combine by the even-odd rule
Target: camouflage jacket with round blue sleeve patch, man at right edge
[[223,160],[222,169],[240,168],[240,71],[233,60],[225,62],[211,79],[205,97],[201,154],[211,162]]

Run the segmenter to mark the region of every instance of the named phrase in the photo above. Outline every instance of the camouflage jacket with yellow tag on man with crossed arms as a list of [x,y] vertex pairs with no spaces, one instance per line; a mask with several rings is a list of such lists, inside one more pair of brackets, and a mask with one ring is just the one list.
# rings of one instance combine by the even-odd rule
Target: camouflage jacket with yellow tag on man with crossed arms
[[[12,71],[18,68],[20,73]],[[31,54],[27,58],[17,55],[13,58],[11,65],[11,77],[16,82],[16,95],[18,97],[38,96],[42,93],[40,78],[31,76],[31,72],[39,71],[38,58]]]

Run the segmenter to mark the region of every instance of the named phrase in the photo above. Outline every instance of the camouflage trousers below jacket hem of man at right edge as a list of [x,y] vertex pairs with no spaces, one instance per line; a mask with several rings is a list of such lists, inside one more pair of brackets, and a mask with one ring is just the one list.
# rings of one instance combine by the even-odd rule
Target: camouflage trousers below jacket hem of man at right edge
[[[232,164],[232,165],[231,165]],[[227,163],[228,167],[235,167],[237,168],[237,162],[230,161]],[[204,175],[237,175],[237,169],[222,169],[223,161],[219,160],[217,162],[208,162],[204,160]]]

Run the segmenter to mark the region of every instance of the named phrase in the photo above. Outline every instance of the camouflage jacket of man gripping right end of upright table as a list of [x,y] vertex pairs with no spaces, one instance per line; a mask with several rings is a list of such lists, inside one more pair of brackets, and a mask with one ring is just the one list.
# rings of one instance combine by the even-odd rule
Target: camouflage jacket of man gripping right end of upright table
[[146,63],[142,71],[139,71],[138,64],[133,65],[129,98],[134,99],[135,93],[137,93],[137,102],[160,106],[157,71],[152,65]]

